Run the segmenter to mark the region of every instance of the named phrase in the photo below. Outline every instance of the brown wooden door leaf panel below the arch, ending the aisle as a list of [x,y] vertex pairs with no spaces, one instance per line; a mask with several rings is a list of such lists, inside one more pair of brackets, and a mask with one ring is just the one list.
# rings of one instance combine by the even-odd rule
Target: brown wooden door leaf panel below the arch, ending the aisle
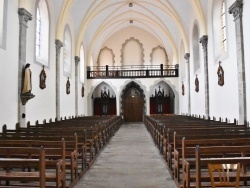
[[125,98],[124,107],[125,122],[142,122],[143,100],[139,96]]

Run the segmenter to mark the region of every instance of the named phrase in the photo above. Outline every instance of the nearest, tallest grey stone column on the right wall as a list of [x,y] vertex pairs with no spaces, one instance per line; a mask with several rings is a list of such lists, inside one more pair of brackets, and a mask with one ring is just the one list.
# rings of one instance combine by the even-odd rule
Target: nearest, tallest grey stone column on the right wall
[[239,97],[239,124],[247,120],[246,112],[246,78],[245,78],[245,60],[244,60],[244,40],[242,12],[243,1],[236,0],[229,7],[229,14],[233,14],[236,33],[236,50],[237,50],[237,74],[238,74],[238,97]]

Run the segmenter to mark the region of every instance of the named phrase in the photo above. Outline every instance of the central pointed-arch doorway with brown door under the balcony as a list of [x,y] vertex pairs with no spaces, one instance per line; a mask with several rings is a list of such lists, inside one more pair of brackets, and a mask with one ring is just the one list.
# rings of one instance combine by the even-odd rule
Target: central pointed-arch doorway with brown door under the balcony
[[145,114],[145,95],[135,82],[130,82],[122,93],[122,114],[125,122],[142,122]]

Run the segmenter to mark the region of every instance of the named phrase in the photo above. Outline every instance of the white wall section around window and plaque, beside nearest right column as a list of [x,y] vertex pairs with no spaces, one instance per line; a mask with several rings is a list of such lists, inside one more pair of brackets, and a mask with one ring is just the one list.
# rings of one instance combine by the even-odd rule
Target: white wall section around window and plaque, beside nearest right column
[[[228,13],[228,8],[234,3],[234,0],[226,1],[226,24],[227,24],[227,42],[228,52],[221,54],[219,58],[213,51],[213,16],[212,2],[208,3],[208,68],[209,68],[209,95],[210,95],[210,117],[228,118],[231,122],[239,117],[238,108],[238,75],[237,75],[237,57],[236,57],[236,37],[235,22],[233,15]],[[246,7],[244,7],[246,8]],[[247,24],[246,24],[247,26]],[[218,85],[218,61],[224,70],[224,86]]]

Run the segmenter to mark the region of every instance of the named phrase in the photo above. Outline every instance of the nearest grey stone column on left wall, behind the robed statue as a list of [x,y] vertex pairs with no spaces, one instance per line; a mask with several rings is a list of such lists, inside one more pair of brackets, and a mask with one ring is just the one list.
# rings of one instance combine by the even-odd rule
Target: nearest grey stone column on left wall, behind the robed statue
[[18,9],[19,15],[19,65],[18,65],[18,122],[21,127],[26,124],[26,108],[22,104],[20,94],[22,93],[22,76],[26,64],[26,42],[28,21],[32,20],[32,15],[24,8]]

